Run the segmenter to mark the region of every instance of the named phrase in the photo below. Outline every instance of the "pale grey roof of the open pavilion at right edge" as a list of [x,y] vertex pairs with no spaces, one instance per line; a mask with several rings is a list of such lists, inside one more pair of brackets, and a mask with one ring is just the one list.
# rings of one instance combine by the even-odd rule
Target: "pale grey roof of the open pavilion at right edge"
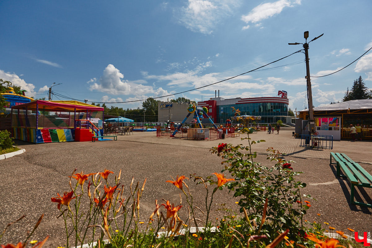
[[[372,109],[372,99],[350,100],[346,102],[327,104],[320,107],[314,107],[313,111],[332,111],[332,110],[348,110],[348,109]],[[308,112],[308,109],[300,112]]]

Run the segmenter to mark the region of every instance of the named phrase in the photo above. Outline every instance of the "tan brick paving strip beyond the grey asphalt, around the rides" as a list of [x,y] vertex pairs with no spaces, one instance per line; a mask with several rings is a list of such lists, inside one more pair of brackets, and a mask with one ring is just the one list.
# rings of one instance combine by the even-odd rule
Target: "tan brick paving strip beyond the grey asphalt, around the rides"
[[[268,147],[273,147],[290,157],[299,158],[322,158],[329,160],[330,152],[345,152],[350,154],[349,157],[356,162],[371,163],[372,160],[372,142],[365,141],[351,141],[341,140],[333,141],[333,149],[312,149],[300,146],[301,139],[292,136],[294,128],[282,128],[279,134],[274,131],[274,134],[268,134],[265,131],[258,131],[251,133],[249,137],[251,140],[264,140],[252,146],[252,150],[260,154],[266,154]],[[240,134],[240,137],[226,139],[217,139],[212,141],[202,141],[193,139],[177,139],[170,137],[156,137],[155,132],[135,132],[133,135],[118,135],[119,140],[144,142],[151,144],[176,145],[176,146],[192,146],[198,148],[211,148],[222,143],[243,144],[248,145],[248,140],[241,140],[241,138],[248,137],[247,134]]]

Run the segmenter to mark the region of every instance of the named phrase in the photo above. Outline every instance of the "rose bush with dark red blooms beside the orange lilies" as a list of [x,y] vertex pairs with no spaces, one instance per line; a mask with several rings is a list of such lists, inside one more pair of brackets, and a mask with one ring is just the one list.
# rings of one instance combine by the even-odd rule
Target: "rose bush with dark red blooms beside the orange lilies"
[[[248,129],[244,128],[243,132],[248,132]],[[304,233],[302,216],[311,207],[310,202],[301,199],[300,189],[306,184],[295,180],[300,172],[288,168],[287,161],[280,158],[282,154],[273,148],[267,149],[270,152],[267,159],[276,162],[273,167],[255,162],[257,154],[251,152],[251,144],[254,143],[256,141],[251,141],[249,146],[221,144],[211,151],[224,159],[222,172],[228,171],[235,178],[228,184],[228,189],[239,198],[240,211],[245,208],[251,221],[263,223],[261,232],[269,238],[289,229],[288,236],[297,242],[298,234]]]

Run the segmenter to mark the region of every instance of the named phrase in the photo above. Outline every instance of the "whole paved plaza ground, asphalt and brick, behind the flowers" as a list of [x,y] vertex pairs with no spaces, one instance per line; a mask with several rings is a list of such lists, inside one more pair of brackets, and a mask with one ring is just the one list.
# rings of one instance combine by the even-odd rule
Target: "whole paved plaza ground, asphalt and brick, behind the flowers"
[[[312,206],[305,216],[309,222],[328,222],[336,230],[345,233],[348,233],[347,228],[359,232],[372,231],[372,209],[350,204],[350,183],[336,178],[336,168],[329,164],[330,152],[344,152],[372,174],[372,142],[343,140],[334,141],[332,150],[309,149],[299,146],[300,139],[292,136],[293,131],[283,129],[279,134],[264,131],[250,134],[252,140],[266,141],[252,145],[252,151],[259,154],[257,161],[263,165],[273,165],[266,160],[268,147],[287,154],[283,156],[286,160],[295,161],[292,162],[294,170],[304,172],[298,176],[298,180],[307,183],[302,193],[310,194],[315,199],[310,200]],[[176,204],[179,202],[179,189],[165,183],[171,180],[170,175],[176,177],[196,173],[205,177],[220,172],[223,169],[221,159],[211,154],[209,149],[221,142],[247,145],[247,139],[241,140],[244,137],[247,135],[202,141],[157,138],[156,132],[135,132],[133,135],[119,135],[118,141],[105,142],[31,144],[17,141],[26,152],[0,161],[0,227],[5,227],[23,214],[27,217],[9,228],[3,243],[21,241],[27,229],[31,229],[44,213],[44,220],[33,239],[40,241],[42,237],[51,235],[45,247],[64,245],[64,223],[61,218],[56,218],[59,215],[57,204],[52,203],[50,198],[69,190],[68,176],[75,168],[84,173],[107,168],[115,174],[122,169],[121,181],[125,189],[129,188],[132,176],[140,183],[147,178],[141,198],[144,214],[140,216],[141,220],[146,221],[154,209],[155,199],[161,203],[161,199],[169,199]],[[193,181],[188,184],[196,204],[203,207],[205,191],[195,186]],[[356,192],[357,200],[372,203],[372,189],[363,188]],[[237,210],[235,201],[226,189],[216,193],[213,218],[224,215],[222,203],[226,204],[224,207]],[[186,213],[182,210],[185,208],[180,211],[181,218]]]

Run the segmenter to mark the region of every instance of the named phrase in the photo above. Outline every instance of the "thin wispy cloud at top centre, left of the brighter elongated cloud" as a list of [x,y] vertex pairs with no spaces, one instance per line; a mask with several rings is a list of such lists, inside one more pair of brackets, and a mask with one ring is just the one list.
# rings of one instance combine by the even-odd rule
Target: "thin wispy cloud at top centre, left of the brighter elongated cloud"
[[187,6],[182,7],[177,17],[193,32],[211,34],[215,25],[231,15],[232,8],[237,6],[237,0],[188,0]]

